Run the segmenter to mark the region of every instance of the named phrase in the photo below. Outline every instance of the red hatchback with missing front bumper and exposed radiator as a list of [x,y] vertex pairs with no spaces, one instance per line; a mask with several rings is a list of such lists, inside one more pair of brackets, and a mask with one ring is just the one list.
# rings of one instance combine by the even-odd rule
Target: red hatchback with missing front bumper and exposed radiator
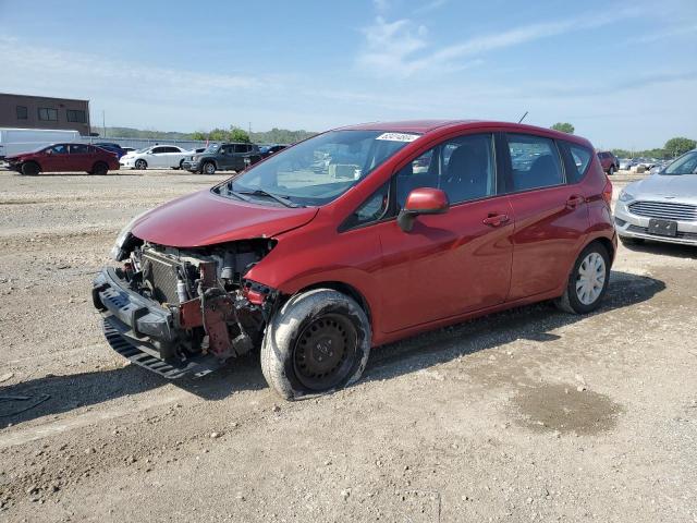
[[541,300],[598,307],[616,239],[590,143],[529,125],[371,123],[135,218],[94,282],[107,340],[168,378],[260,348],[286,399],[371,346]]

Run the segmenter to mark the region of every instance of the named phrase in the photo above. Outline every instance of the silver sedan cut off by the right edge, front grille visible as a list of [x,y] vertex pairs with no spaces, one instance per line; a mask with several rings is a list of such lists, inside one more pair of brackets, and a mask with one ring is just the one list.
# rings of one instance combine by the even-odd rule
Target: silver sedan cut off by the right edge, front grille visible
[[623,243],[697,245],[697,149],[621,193],[614,222]]

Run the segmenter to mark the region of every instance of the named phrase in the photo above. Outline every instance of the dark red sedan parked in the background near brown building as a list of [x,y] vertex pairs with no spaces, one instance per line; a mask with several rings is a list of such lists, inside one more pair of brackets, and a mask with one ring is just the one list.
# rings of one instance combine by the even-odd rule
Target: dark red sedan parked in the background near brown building
[[10,169],[22,174],[39,172],[86,171],[89,174],[107,174],[119,170],[117,155],[87,144],[53,144],[32,153],[5,158]]

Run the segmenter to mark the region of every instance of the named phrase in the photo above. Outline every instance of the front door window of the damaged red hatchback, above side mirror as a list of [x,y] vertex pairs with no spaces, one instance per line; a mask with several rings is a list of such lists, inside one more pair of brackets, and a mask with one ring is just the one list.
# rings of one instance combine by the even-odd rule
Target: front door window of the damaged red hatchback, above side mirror
[[400,208],[418,187],[441,188],[451,204],[496,194],[493,135],[473,134],[443,142],[396,173]]

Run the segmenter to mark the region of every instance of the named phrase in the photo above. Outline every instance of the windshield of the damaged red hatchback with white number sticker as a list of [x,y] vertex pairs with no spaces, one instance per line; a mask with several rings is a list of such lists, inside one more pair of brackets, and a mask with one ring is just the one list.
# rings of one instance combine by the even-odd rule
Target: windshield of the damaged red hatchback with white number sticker
[[232,197],[235,193],[269,193],[296,205],[325,205],[418,137],[383,131],[331,131],[283,149],[216,191]]

